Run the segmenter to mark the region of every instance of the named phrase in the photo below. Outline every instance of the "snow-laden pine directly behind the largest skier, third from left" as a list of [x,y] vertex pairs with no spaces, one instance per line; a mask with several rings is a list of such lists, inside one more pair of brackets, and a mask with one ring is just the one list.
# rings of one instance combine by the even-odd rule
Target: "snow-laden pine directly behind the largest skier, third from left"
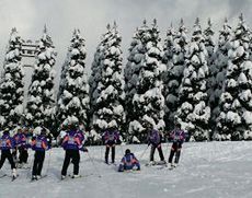
[[61,71],[57,121],[72,120],[88,126],[89,84],[85,69],[85,45],[79,30],[73,31],[71,45]]

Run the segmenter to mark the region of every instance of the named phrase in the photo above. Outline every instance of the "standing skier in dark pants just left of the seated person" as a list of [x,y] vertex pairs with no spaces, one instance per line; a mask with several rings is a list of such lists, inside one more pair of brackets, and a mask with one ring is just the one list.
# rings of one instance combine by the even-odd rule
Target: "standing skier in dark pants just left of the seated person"
[[108,128],[102,135],[102,140],[106,145],[105,150],[105,163],[108,164],[108,153],[110,149],[112,150],[111,160],[112,163],[115,163],[115,144],[121,143],[119,133],[116,130],[115,126],[108,126]]

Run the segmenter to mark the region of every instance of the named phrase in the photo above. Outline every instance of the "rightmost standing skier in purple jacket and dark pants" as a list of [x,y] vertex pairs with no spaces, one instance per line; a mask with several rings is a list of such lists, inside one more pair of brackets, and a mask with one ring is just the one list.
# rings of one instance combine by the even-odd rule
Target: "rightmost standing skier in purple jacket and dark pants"
[[[171,152],[169,156],[169,164],[171,167],[175,167],[179,164],[180,155],[181,155],[181,149],[182,149],[182,143],[185,141],[185,132],[181,129],[181,124],[175,124],[174,130],[171,131],[170,138],[172,140],[172,147],[171,147]],[[175,161],[173,164],[173,156],[175,154]]]

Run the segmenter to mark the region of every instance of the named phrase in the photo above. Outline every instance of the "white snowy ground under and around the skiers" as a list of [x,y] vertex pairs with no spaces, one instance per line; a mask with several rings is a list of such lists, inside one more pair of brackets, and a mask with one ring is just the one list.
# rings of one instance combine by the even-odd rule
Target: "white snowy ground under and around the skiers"
[[[163,151],[168,158],[168,147]],[[147,148],[141,145],[118,145],[117,163],[126,148],[140,156]],[[139,173],[117,173],[116,166],[103,163],[104,147],[90,147],[92,164],[87,153],[81,153],[80,174],[88,175],[78,179],[59,180],[64,160],[62,149],[51,151],[48,176],[30,183],[28,170],[19,170],[19,178],[0,178],[0,197],[19,198],[251,198],[252,197],[252,142],[205,142],[184,143],[180,166],[168,168],[146,167],[149,150],[145,153]],[[158,153],[156,159],[158,160]],[[30,155],[30,163],[33,154]],[[46,155],[44,172],[48,164]],[[10,173],[4,164],[2,172]],[[69,167],[69,173],[72,166]],[[90,175],[93,174],[93,175]],[[101,177],[99,177],[101,175]]]

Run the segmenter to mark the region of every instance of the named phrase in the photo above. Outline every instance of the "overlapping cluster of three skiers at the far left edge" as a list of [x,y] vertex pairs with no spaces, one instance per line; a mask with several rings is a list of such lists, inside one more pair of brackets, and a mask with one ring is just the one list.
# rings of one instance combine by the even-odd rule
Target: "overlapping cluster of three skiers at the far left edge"
[[[28,128],[16,128],[16,133],[13,136],[10,135],[10,129],[4,129],[2,137],[0,138],[0,170],[8,159],[11,164],[12,178],[18,177],[16,167],[28,168],[27,150],[31,148],[35,151],[33,170],[32,170],[32,179],[37,179],[41,177],[41,172],[45,159],[45,151],[50,149],[51,137],[45,128],[42,128],[38,135],[33,135]],[[12,152],[11,152],[12,151]],[[19,152],[19,160],[18,160]]]

